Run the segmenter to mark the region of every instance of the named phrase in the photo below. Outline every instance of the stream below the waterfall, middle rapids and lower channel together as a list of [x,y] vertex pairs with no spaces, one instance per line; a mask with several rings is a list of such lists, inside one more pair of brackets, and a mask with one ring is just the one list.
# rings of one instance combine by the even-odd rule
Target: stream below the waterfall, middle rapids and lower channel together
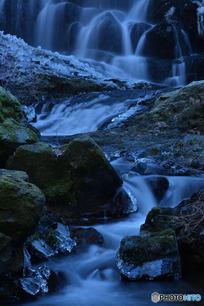
[[[36,104],[35,109],[40,109],[40,111],[34,125],[40,129],[43,135],[51,136],[55,134],[54,131],[56,131],[59,120],[64,118],[64,125],[59,128],[60,135],[93,131],[100,126],[104,119],[112,118],[119,112],[129,109],[131,104],[136,103],[137,105],[137,101],[147,94],[153,94],[153,91],[120,91],[120,95],[117,92],[104,93],[103,95],[93,93],[66,101],[52,101],[52,103],[57,103],[51,109],[48,108],[50,102],[47,102],[43,106],[44,110]],[[87,102],[82,102],[86,99]],[[41,117],[45,115],[46,117]],[[77,120],[73,124],[74,118]],[[83,118],[88,122],[86,128],[81,124]],[[105,147],[102,149],[106,150]],[[145,222],[146,215],[152,207],[175,207],[183,199],[187,199],[194,192],[203,189],[203,178],[166,176],[169,187],[163,198],[157,201],[146,182],[147,176],[131,171],[134,164],[132,160],[129,160],[128,157],[118,157],[113,158],[111,164],[137,199],[137,212],[118,218],[101,218],[100,224],[87,226],[76,224],[75,227],[94,227],[103,235],[104,243],[99,246],[80,246],[76,254],[49,259],[46,264],[56,273],[58,271],[63,273],[64,287],[50,296],[38,297],[37,301],[32,302],[33,306],[102,306],[104,304],[108,306],[132,306],[135,304],[142,306],[153,303],[151,294],[154,292],[159,294],[200,293],[202,295],[204,281],[196,275],[184,276],[179,281],[122,281],[116,265],[116,252],[123,237],[139,233],[140,225]],[[156,164],[147,164],[147,170],[152,171],[152,176],[161,176],[160,166]],[[175,303],[177,302],[172,302],[172,304]],[[184,301],[179,303],[185,305]],[[196,303],[191,302],[191,304]],[[30,305],[30,302],[20,302],[20,304]],[[162,301],[160,304],[163,305],[165,302]]]

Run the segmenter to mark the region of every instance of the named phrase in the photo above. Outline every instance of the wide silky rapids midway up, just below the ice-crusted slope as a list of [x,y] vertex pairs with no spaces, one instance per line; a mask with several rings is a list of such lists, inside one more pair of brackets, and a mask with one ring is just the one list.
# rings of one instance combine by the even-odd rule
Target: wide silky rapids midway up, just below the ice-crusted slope
[[[113,117],[125,112],[130,105],[137,105],[137,101],[154,91],[112,91],[104,93],[90,93],[61,100],[49,110],[50,103],[43,103],[38,110],[39,103],[35,104],[37,122],[32,123],[40,130],[42,136],[73,135],[96,131],[100,125]],[[141,106],[138,106],[141,108]]]

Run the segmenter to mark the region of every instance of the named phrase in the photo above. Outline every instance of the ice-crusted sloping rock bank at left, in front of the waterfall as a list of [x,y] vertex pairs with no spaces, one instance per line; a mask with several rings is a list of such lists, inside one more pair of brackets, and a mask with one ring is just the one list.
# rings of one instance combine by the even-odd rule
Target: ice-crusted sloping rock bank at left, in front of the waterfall
[[[75,5],[65,3],[66,19],[69,22],[71,18],[71,24],[76,21],[75,13],[80,14],[81,8],[78,8],[78,13],[77,8]],[[73,12],[72,15],[70,15],[71,12]],[[59,22],[61,30],[71,26],[69,23],[66,24],[66,21],[60,20]],[[67,52],[69,49],[67,30],[63,39],[60,38],[59,32],[53,35],[53,39],[53,48],[56,50],[58,45],[60,51],[61,45],[64,45],[66,41]],[[105,40],[108,40],[107,37]],[[108,44],[111,47],[110,41],[107,41]],[[20,103],[27,106],[37,100],[67,99],[67,97],[82,92],[109,91],[117,88],[116,84],[104,81],[104,76],[90,68],[87,63],[79,62],[73,55],[65,56],[58,52],[33,48],[28,46],[23,39],[17,39],[15,35],[3,35],[3,31],[1,32],[1,49],[4,53],[3,65],[0,67],[2,84],[17,97]],[[11,67],[15,67],[15,74],[12,73]]]

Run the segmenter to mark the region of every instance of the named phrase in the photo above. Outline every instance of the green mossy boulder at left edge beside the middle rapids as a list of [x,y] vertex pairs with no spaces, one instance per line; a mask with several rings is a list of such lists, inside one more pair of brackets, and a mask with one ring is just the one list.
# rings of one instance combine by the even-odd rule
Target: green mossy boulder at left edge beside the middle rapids
[[16,147],[35,143],[38,136],[28,127],[18,100],[0,87],[0,167],[5,167]]

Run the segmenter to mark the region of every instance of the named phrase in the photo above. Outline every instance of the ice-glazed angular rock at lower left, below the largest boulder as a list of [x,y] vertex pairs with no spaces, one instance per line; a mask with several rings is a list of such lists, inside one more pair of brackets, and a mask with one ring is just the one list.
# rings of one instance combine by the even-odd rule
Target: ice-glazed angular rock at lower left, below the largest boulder
[[31,262],[45,261],[51,256],[75,252],[76,242],[71,239],[68,226],[52,223],[43,226],[42,217],[34,236],[28,238],[26,245],[31,254]]

